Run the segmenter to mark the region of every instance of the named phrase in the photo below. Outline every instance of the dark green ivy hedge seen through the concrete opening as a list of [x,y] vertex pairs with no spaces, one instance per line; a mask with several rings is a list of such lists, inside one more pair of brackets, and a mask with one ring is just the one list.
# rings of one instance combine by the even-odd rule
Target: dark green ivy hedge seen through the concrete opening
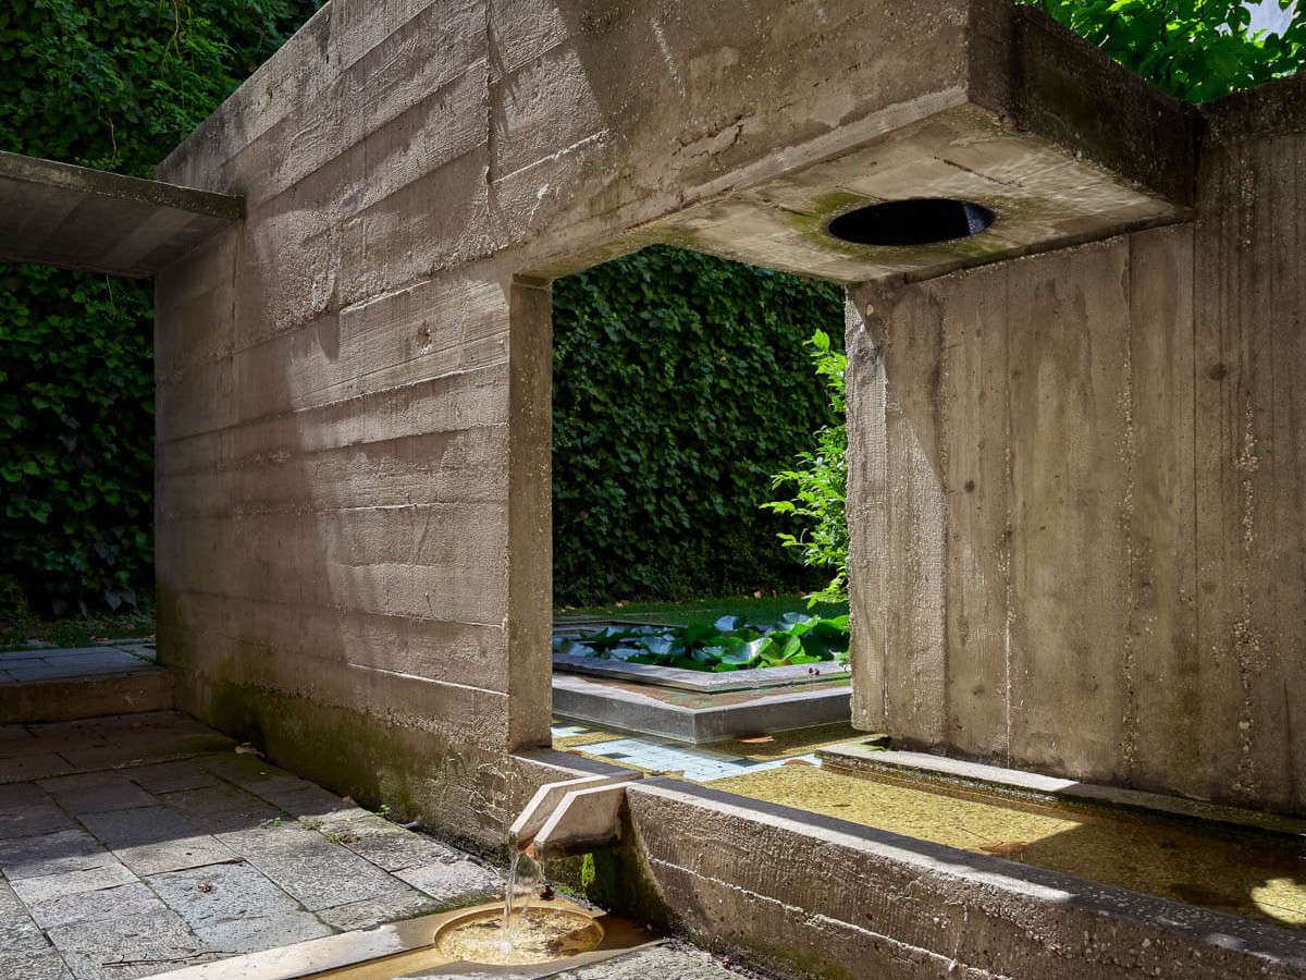
[[771,474],[833,422],[803,342],[842,290],[675,248],[554,284],[559,602],[795,589]]

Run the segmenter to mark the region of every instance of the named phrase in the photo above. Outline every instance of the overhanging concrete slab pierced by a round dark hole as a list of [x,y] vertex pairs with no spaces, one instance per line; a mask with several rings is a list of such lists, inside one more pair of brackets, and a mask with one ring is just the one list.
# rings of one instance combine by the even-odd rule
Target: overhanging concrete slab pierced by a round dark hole
[[[641,230],[658,240],[838,282],[938,276],[1191,218],[1199,132],[1191,106],[1110,64],[1032,8],[1010,56],[905,124]],[[829,234],[866,205],[953,199],[994,223],[935,244],[865,246]]]

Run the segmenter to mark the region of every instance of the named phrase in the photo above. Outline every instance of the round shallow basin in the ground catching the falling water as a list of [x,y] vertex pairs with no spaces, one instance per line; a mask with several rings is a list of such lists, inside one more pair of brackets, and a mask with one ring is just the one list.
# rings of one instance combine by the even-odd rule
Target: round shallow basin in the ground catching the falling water
[[435,949],[451,962],[550,963],[588,953],[603,941],[603,926],[582,912],[528,908],[512,917],[504,934],[503,912],[487,909],[449,923],[435,936]]

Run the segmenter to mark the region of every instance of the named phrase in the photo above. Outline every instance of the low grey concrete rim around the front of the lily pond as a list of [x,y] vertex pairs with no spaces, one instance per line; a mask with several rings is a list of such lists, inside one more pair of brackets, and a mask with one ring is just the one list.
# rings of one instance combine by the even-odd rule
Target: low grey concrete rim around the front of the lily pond
[[633,685],[554,674],[555,717],[693,745],[844,721],[852,713],[849,699],[846,682],[751,696],[737,691],[714,699],[704,694],[640,690]]

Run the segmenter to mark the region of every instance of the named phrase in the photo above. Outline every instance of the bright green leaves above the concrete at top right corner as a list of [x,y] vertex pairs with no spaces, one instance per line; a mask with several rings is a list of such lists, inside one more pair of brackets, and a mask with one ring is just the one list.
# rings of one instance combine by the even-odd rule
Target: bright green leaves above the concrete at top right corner
[[[1205,102],[1294,74],[1306,3],[1279,34],[1251,33],[1242,0],[1028,0],[1162,91]],[[1279,0],[1281,9],[1293,0]]]

